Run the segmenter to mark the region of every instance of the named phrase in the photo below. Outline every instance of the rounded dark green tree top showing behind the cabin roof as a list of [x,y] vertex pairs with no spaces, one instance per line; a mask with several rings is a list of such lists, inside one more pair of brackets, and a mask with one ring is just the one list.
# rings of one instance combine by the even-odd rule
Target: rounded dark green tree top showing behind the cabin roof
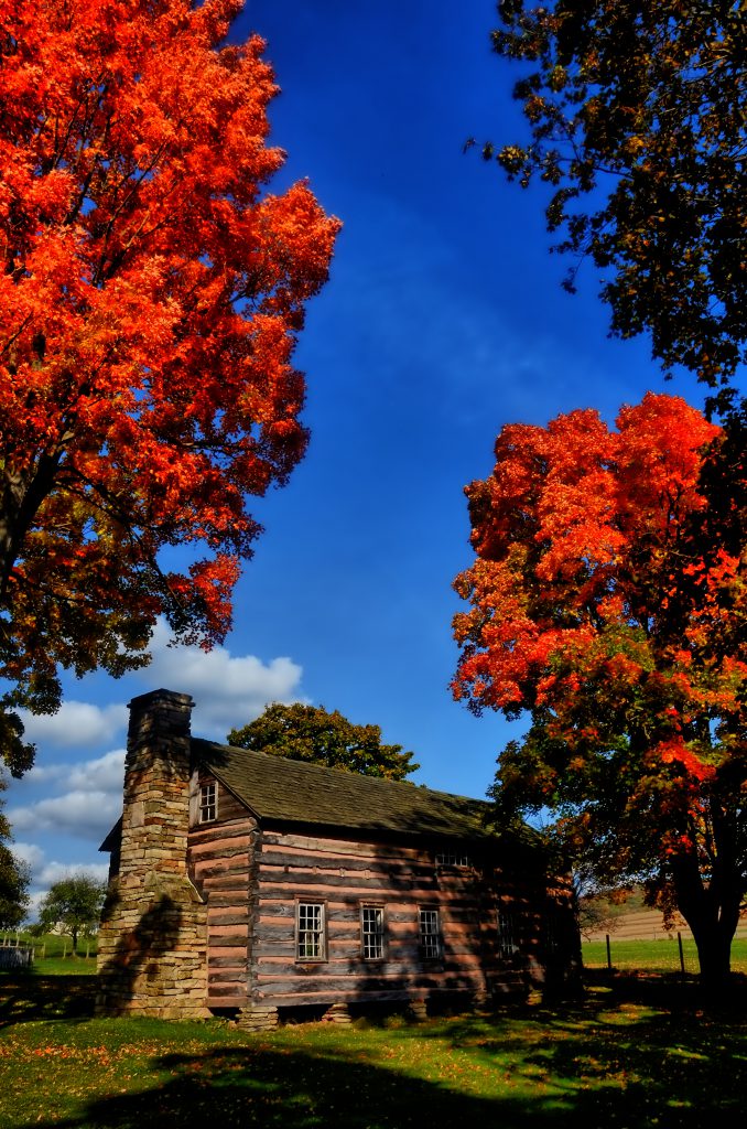
[[420,768],[402,745],[381,744],[378,725],[353,725],[337,710],[329,714],[323,706],[301,702],[273,702],[255,721],[231,729],[227,739],[241,749],[386,780],[403,780]]

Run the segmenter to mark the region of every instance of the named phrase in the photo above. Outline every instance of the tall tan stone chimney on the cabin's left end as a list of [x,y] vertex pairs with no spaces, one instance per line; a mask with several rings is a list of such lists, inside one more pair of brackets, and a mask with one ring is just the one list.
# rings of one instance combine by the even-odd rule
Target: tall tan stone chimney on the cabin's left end
[[187,868],[188,694],[130,702],[118,874],[98,944],[99,1014],[208,1015],[206,907]]

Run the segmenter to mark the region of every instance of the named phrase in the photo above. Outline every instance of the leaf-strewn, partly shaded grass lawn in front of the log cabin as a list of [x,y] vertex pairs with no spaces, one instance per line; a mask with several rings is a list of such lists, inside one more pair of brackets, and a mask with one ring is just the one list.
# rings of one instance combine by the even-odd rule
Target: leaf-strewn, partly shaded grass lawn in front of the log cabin
[[[747,987],[598,973],[582,1001],[429,1019],[299,1024],[91,1017],[94,980],[0,978],[0,1124],[701,1129],[744,1119]],[[737,998],[739,997],[739,998]],[[209,1120],[208,1120],[209,1119]]]

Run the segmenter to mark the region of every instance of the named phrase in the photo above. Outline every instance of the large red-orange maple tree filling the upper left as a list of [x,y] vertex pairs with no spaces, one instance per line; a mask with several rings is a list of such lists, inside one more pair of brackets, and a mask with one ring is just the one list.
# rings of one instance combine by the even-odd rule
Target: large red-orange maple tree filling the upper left
[[[291,355],[339,221],[266,191],[276,91],[239,0],[0,0],[0,741],[59,666],[219,640],[302,457]],[[164,550],[192,563],[169,571]],[[20,759],[19,759],[20,758]]]

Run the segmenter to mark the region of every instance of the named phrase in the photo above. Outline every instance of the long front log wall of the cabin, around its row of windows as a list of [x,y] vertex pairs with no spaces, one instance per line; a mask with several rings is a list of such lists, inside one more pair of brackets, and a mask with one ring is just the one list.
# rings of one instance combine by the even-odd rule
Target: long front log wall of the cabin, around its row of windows
[[[525,907],[492,865],[475,868],[484,860],[439,866],[437,849],[280,829],[266,829],[258,847],[253,1006],[482,999],[526,988],[526,962],[517,951],[501,954],[496,918],[501,894],[517,919]],[[299,903],[323,907],[323,959],[299,959]],[[362,954],[364,907],[384,912],[381,959]],[[421,947],[421,910],[438,912],[438,957]]]

